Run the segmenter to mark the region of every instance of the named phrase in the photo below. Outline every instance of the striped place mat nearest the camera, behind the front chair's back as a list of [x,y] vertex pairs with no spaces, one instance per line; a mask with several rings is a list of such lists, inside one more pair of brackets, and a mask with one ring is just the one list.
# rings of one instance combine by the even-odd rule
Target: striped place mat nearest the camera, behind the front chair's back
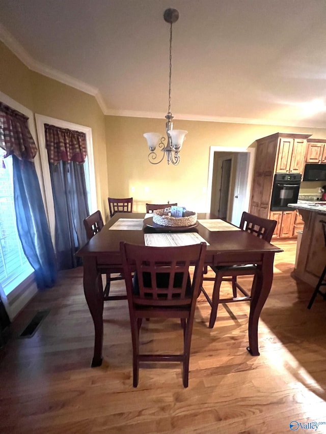
[[209,243],[197,234],[197,232],[179,234],[144,234],[144,239],[146,246],[154,247],[189,246],[192,244],[199,244],[202,241],[209,246]]

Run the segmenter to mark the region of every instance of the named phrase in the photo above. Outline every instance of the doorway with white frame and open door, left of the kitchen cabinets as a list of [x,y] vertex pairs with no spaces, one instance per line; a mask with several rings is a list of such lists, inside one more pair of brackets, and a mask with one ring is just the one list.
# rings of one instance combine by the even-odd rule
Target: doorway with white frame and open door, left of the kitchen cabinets
[[249,210],[254,157],[254,148],[210,147],[207,209],[237,226]]

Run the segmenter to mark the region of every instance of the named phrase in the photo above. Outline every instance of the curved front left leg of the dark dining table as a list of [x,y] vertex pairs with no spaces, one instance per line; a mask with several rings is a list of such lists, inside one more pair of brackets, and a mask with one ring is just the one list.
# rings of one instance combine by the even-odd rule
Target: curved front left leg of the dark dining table
[[84,294],[94,322],[95,342],[91,364],[93,368],[102,364],[103,347],[103,285],[94,256],[84,257]]

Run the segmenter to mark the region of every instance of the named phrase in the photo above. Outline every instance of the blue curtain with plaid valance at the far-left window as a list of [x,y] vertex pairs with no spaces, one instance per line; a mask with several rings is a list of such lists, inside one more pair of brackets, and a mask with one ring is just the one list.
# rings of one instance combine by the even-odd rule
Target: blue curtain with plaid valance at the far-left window
[[57,279],[57,261],[47,224],[34,157],[37,147],[28,117],[0,102],[0,146],[13,159],[16,225],[22,249],[33,267],[39,290]]

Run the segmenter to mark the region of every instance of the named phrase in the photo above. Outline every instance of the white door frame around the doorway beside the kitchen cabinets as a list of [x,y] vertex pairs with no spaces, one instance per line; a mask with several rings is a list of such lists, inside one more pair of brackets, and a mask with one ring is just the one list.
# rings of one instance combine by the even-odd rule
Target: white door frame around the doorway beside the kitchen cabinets
[[248,206],[247,210],[249,210],[249,202],[250,202],[250,194],[251,194],[251,186],[253,181],[253,173],[254,173],[254,163],[255,163],[255,148],[230,148],[225,146],[211,146],[209,148],[209,164],[208,164],[208,181],[207,181],[207,196],[206,196],[206,212],[210,212],[211,206],[211,194],[212,194],[212,182],[213,182],[213,167],[214,167],[214,153],[215,152],[248,152],[249,158],[247,162],[248,167],[248,179],[247,179],[247,189],[246,189],[246,200],[245,203]]

